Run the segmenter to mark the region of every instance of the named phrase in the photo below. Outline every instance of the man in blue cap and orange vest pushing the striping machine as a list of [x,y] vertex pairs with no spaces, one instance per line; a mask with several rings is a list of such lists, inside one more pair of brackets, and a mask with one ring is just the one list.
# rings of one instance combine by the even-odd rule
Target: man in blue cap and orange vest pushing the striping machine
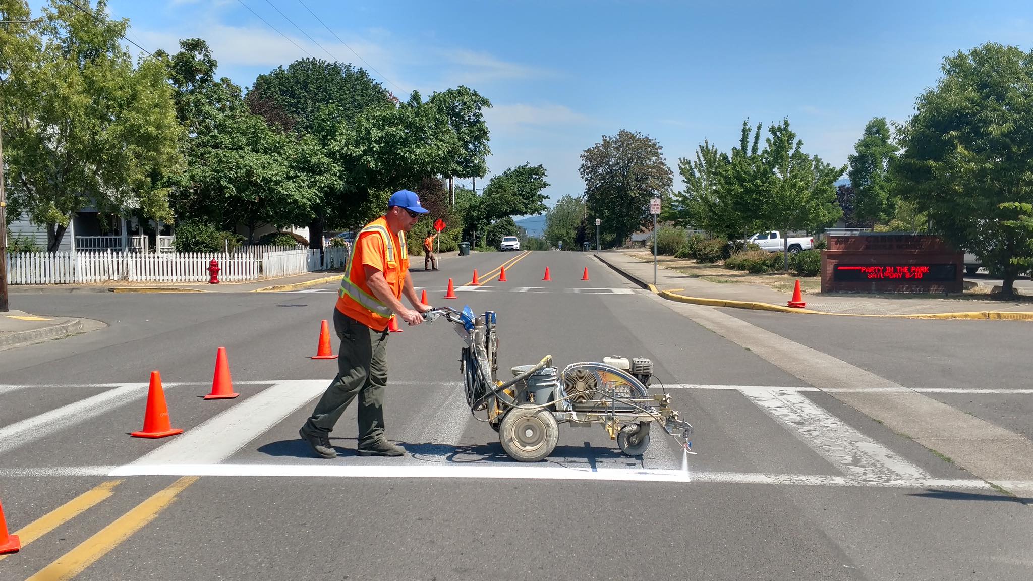
[[[384,437],[387,325],[393,316],[419,325],[421,313],[431,310],[416,297],[405,243],[405,233],[427,212],[414,192],[396,191],[387,202],[387,213],[366,224],[355,237],[334,310],[334,328],[341,339],[337,377],[299,432],[321,458],[337,456],[330,432],[356,395],[358,455],[405,454],[405,449]],[[402,295],[409,299],[411,309],[402,304]]]

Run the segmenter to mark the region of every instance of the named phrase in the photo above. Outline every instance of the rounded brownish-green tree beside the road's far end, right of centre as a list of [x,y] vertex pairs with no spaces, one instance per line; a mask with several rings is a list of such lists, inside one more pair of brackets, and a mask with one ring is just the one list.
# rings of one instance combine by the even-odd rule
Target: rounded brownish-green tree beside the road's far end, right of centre
[[648,135],[621,129],[603,135],[581,158],[588,213],[602,219],[617,244],[651,222],[650,198],[670,191],[670,167],[660,144]]

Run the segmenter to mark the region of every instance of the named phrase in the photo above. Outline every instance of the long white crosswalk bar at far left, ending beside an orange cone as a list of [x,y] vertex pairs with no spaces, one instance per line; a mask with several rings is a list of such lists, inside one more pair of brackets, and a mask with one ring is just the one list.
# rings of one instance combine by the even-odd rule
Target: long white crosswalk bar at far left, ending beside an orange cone
[[124,384],[0,428],[0,454],[106,414],[114,407],[143,397],[147,393],[147,384]]

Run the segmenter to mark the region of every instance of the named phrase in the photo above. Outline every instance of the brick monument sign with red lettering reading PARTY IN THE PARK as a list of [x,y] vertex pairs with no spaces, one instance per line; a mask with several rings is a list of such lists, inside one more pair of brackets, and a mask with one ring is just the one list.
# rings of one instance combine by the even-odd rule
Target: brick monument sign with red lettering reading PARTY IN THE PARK
[[829,236],[822,293],[961,293],[965,254],[938,236]]

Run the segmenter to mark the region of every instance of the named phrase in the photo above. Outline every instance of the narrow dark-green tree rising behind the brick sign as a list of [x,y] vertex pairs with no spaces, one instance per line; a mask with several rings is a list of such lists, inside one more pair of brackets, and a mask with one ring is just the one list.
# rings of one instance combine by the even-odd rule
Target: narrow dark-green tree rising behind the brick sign
[[895,211],[889,166],[900,148],[893,143],[889,126],[883,117],[865,125],[865,133],[854,146],[856,153],[847,156],[850,187],[854,192],[854,220],[867,226],[886,223]]

